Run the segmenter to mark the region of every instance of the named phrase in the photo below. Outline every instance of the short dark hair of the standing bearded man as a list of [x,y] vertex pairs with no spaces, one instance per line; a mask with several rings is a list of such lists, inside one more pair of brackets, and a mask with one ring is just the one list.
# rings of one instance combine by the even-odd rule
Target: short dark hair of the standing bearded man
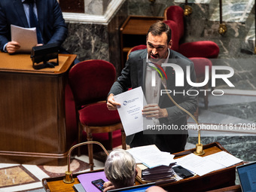
[[[167,35],[167,44],[169,44],[169,41],[171,41],[172,38],[172,30],[169,28],[169,26],[166,23],[163,23],[163,21],[158,20],[157,23],[154,23],[149,29],[148,33],[150,33],[154,36],[156,35],[162,35],[163,32]],[[147,34],[148,38],[148,34]]]

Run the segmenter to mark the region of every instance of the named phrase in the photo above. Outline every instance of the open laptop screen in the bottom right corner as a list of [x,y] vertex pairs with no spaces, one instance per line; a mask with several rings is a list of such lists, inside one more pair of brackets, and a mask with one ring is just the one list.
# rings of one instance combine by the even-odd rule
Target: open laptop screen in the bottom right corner
[[256,191],[256,162],[236,167],[242,192]]

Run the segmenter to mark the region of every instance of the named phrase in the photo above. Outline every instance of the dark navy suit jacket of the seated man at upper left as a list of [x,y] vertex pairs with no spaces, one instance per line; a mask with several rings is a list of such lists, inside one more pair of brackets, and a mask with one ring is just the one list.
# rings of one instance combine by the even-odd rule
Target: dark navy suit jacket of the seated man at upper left
[[[56,0],[36,0],[39,28],[44,44],[60,46],[67,36],[67,27]],[[29,27],[21,0],[0,1],[0,49],[11,41],[11,24]]]

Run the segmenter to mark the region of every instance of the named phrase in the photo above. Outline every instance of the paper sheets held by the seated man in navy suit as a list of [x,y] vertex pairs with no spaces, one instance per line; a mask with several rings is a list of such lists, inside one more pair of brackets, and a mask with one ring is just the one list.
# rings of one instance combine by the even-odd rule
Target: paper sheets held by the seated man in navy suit
[[17,41],[20,44],[20,49],[17,52],[30,53],[32,47],[38,44],[36,28],[11,25],[11,41]]

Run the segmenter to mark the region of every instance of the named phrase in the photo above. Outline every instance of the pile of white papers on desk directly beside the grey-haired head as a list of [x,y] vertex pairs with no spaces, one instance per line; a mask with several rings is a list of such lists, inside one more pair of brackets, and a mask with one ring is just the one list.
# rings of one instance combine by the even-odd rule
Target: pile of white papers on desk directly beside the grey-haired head
[[143,163],[150,169],[156,166],[169,166],[170,163],[175,163],[175,160],[173,160],[174,155],[160,151],[156,145],[131,148],[127,151],[133,155],[136,163]]

